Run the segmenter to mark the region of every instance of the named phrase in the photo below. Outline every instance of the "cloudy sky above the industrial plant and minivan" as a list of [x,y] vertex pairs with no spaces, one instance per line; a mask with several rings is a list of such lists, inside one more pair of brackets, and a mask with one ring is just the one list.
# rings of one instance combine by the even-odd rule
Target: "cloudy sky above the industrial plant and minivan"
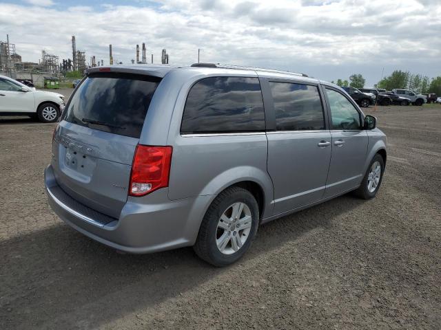
[[441,76],[441,0],[0,0],[0,40],[23,61],[41,50],[130,63],[136,44],[161,63],[201,62],[300,72],[322,80],[394,69]]

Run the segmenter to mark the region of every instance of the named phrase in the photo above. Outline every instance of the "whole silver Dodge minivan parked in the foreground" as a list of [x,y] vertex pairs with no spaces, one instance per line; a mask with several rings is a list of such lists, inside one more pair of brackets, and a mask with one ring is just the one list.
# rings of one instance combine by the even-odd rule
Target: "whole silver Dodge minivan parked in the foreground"
[[340,87],[228,65],[95,67],[54,129],[49,203],[116,250],[237,261],[262,223],[380,188],[386,137]]

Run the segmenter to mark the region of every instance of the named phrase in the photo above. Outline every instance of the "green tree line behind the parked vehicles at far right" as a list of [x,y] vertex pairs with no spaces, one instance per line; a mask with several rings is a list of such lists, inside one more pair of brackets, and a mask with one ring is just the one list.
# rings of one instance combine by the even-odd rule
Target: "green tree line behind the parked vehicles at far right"
[[[332,81],[334,83],[334,81]],[[366,80],[361,74],[352,74],[348,80],[337,80],[338,86],[346,87],[365,87]],[[378,83],[373,85],[376,88],[383,88],[391,91],[394,88],[411,89],[420,94],[434,93],[441,95],[441,76],[430,79],[422,74],[411,74],[409,71],[395,70],[390,76],[382,78]]]

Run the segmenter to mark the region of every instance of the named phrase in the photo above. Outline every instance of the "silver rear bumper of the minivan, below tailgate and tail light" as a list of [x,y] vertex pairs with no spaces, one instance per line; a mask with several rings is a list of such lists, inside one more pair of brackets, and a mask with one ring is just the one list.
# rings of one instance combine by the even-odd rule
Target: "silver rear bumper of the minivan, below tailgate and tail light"
[[72,228],[117,250],[149,253],[193,245],[212,196],[170,201],[168,190],[129,197],[119,219],[88,208],[57,184],[52,166],[45,169],[50,207]]

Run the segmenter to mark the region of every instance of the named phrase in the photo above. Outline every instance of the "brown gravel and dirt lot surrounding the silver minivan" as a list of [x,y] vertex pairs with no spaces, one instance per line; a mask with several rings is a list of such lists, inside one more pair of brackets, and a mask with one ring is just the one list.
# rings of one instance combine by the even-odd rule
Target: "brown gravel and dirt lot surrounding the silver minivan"
[[376,115],[389,137],[376,199],[264,225],[224,269],[69,228],[43,188],[53,124],[0,118],[0,329],[440,329],[441,107]]

